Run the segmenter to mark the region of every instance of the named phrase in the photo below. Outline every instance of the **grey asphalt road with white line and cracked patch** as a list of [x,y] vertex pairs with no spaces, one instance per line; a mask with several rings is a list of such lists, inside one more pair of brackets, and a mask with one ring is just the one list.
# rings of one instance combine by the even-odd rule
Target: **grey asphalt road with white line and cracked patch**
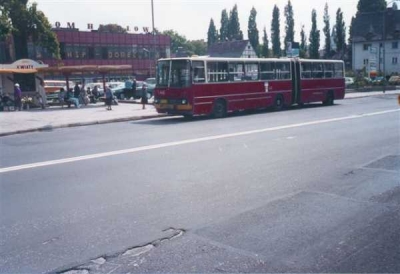
[[183,235],[115,272],[400,272],[396,96],[14,135],[0,150],[1,273],[115,260],[168,228]]

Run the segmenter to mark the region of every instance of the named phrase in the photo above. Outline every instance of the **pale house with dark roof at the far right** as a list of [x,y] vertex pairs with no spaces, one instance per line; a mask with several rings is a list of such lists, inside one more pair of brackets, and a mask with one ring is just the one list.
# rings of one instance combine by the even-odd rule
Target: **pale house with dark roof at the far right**
[[352,30],[355,71],[400,73],[400,10],[358,13]]

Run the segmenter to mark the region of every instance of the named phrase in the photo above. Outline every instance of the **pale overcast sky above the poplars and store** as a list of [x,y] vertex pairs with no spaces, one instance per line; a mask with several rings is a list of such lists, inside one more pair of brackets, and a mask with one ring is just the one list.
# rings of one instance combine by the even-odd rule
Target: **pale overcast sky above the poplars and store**
[[[116,23],[124,27],[151,27],[151,0],[36,0],[38,8],[45,12],[52,24],[56,21],[65,27],[67,22],[75,22],[81,30],[92,23]],[[335,23],[336,11],[340,7],[344,13],[346,26],[355,15],[358,0],[292,0],[295,14],[296,38],[299,40],[301,26],[305,25],[308,36],[311,27],[311,11],[317,10],[318,28],[323,37],[324,5],[328,2],[331,26]],[[228,12],[238,5],[240,27],[247,38],[247,22],[251,8],[258,12],[257,26],[261,31],[266,26],[270,37],[272,9],[276,4],[281,10],[281,33],[284,36],[284,6],[287,0],[154,0],[155,26],[159,30],[173,29],[188,39],[207,39],[210,18],[220,27],[221,11]]]

